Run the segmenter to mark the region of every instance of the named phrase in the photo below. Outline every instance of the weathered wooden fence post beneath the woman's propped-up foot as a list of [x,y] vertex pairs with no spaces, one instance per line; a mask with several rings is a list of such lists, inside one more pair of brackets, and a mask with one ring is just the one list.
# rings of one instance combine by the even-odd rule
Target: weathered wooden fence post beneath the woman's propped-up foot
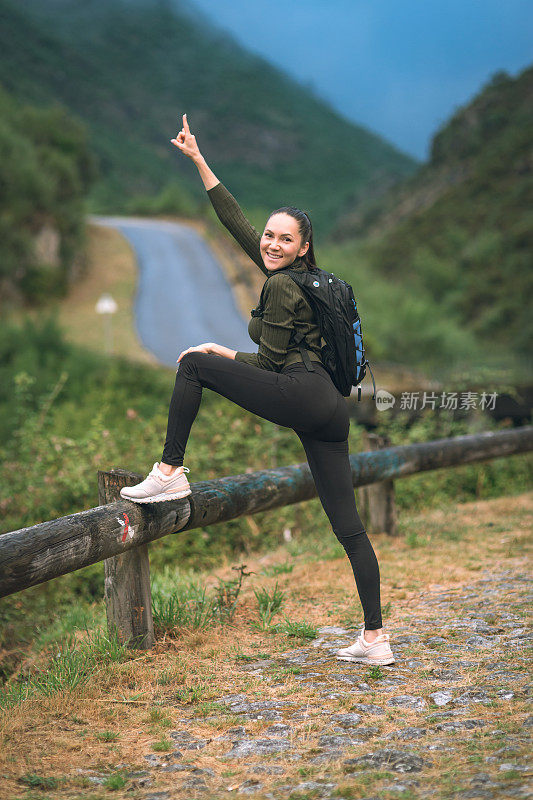
[[[114,503],[123,486],[134,486],[143,476],[124,469],[98,471],[100,505]],[[126,528],[128,521],[124,522]],[[128,532],[125,529],[124,535]],[[107,627],[129,647],[148,650],[154,645],[148,545],[142,544],[104,560]]]

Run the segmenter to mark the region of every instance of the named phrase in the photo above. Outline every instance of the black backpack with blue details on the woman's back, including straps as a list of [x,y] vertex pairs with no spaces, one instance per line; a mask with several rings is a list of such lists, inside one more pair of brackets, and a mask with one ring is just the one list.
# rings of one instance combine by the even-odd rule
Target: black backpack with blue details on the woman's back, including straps
[[[350,284],[319,267],[309,267],[305,272],[296,272],[290,267],[285,267],[272,274],[278,272],[285,272],[292,278],[311,306],[324,342],[320,358],[339,392],[344,397],[349,397],[352,386],[357,386],[357,399],[360,400],[361,387],[358,384],[365,377],[368,367],[372,376],[373,399],[375,399],[376,384],[370,364],[365,358],[361,320]],[[261,316],[262,311],[263,293],[257,309],[254,309],[252,314]],[[299,332],[293,334],[291,343],[300,350],[306,368],[314,372],[311,359],[303,345],[304,339],[305,334]]]

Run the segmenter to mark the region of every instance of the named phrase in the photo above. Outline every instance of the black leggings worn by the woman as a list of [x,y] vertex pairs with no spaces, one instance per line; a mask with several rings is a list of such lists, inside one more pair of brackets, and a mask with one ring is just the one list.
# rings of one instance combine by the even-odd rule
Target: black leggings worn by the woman
[[313,366],[314,372],[302,363],[271,372],[211,353],[187,353],[176,375],[161,461],[183,464],[204,386],[263,419],[292,428],[304,446],[324,511],[352,565],[365,628],[376,630],[383,624],[379,567],[355,504],[348,409],[324,367]]

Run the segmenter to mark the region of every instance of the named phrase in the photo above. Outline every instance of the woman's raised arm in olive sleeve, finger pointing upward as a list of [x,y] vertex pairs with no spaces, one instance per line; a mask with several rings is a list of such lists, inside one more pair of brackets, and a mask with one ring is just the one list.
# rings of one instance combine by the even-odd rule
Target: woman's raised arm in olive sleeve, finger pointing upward
[[265,275],[270,275],[261,257],[261,250],[259,247],[261,236],[254,226],[248,222],[233,195],[228,192],[226,187],[218,180],[215,173],[208,167],[196,143],[196,138],[189,130],[187,114],[183,115],[183,128],[176,138],[170,141],[196,165],[209,199],[221,223],[228,229],[246,255],[252,259],[261,272]]

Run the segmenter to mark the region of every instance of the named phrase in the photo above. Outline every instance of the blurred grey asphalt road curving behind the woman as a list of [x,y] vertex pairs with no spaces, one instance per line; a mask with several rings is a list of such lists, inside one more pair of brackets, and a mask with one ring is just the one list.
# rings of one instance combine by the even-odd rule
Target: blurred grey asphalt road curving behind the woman
[[175,366],[182,350],[203,342],[256,349],[221,266],[195,230],[135,217],[91,221],[119,230],[135,251],[137,333],[162,364]]

